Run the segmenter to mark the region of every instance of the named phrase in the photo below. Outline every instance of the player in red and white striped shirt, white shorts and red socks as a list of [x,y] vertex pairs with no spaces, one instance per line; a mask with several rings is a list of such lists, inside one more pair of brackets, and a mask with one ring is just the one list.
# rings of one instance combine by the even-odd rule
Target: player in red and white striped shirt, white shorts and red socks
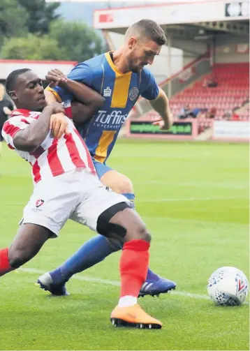
[[[85,86],[82,89],[88,107],[91,100],[96,105],[102,103],[96,92]],[[147,275],[151,239],[140,216],[124,195],[101,184],[89,151],[73,121],[64,115],[64,107],[59,103],[46,106],[36,73],[13,71],[6,80],[6,90],[17,110],[3,125],[3,137],[10,149],[31,164],[34,193],[24,208],[13,244],[0,250],[0,276],[31,260],[47,239],[59,235],[70,218],[105,237],[124,241],[120,299],[111,314],[112,324],[161,329],[161,322],[137,304]]]

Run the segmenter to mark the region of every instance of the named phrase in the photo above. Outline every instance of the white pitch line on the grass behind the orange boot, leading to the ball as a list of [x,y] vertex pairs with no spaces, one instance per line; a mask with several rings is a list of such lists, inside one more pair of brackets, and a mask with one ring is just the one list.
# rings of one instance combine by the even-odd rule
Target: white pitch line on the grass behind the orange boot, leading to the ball
[[[44,274],[44,271],[41,271],[40,269],[36,269],[36,268],[18,268],[17,271],[23,271],[25,273],[29,273],[29,274]],[[120,286],[120,282],[119,281],[110,281],[108,279],[101,279],[101,278],[89,278],[87,276],[73,276],[73,279],[76,279],[78,281],[90,281],[92,283],[102,283],[102,284],[106,284],[106,285],[113,285],[113,286]],[[184,291],[177,291],[177,290],[172,290],[171,294],[175,294],[175,295],[179,295],[179,296],[183,296],[183,297],[191,297],[192,299],[205,299],[205,300],[209,300],[209,297],[207,295],[203,295],[203,294],[193,294],[190,292],[184,292]]]

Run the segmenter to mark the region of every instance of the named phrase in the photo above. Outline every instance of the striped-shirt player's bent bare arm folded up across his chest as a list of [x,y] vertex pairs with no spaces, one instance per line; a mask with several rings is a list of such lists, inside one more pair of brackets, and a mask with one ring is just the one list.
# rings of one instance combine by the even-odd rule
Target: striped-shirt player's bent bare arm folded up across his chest
[[53,114],[64,114],[64,107],[59,103],[45,107],[36,121],[15,134],[13,138],[15,148],[20,151],[33,152],[40,147],[49,133],[50,119]]

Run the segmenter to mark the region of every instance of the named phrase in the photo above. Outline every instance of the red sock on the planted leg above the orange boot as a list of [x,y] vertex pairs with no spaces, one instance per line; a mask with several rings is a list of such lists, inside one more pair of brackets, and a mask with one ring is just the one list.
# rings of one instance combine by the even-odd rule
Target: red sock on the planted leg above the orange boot
[[149,242],[144,240],[127,241],[122,249],[120,260],[121,295],[138,297],[140,287],[146,280],[149,266]]

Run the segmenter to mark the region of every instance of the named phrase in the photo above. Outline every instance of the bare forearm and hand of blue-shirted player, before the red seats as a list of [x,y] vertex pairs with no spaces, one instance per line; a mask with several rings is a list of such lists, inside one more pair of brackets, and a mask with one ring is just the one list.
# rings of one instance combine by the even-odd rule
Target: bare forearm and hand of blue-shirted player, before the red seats
[[154,124],[161,126],[161,129],[169,129],[172,126],[173,117],[170,111],[168,97],[164,91],[159,88],[159,96],[154,100],[149,100],[149,103],[162,118],[154,121]]

